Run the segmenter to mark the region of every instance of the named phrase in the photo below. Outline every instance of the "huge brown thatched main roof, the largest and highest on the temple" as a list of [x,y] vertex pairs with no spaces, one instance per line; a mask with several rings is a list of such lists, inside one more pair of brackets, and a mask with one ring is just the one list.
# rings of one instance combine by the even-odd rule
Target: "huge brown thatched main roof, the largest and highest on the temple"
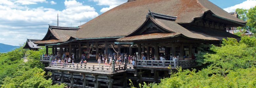
[[240,23],[231,22],[233,26],[243,26],[241,24],[246,23],[208,0],[133,0],[80,25],[81,29],[77,32],[77,38],[127,36],[143,24],[148,9],[177,17],[175,22],[178,24],[191,23],[196,18],[202,18],[206,12]]

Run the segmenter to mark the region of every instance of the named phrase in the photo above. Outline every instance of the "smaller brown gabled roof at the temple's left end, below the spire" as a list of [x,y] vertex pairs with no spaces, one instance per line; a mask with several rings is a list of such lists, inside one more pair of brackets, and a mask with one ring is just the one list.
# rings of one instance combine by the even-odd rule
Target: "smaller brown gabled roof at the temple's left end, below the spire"
[[48,32],[45,37],[36,41],[36,44],[54,44],[65,42],[70,39],[70,37],[76,37],[76,32],[80,27],[61,27],[49,25]]

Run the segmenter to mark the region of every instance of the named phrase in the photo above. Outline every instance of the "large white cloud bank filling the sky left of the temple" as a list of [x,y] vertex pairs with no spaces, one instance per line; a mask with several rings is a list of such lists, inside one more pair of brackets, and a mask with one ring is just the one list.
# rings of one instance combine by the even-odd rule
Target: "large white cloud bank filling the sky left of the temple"
[[[37,2],[33,3],[45,0],[35,1]],[[42,39],[48,30],[48,24],[57,25],[57,13],[59,26],[69,27],[71,23],[72,27],[76,27],[80,25],[80,21],[83,24],[99,15],[94,7],[82,5],[75,0],[66,0],[66,8],[61,11],[45,7],[29,8],[14,2],[0,0],[0,43],[19,45],[27,38]]]

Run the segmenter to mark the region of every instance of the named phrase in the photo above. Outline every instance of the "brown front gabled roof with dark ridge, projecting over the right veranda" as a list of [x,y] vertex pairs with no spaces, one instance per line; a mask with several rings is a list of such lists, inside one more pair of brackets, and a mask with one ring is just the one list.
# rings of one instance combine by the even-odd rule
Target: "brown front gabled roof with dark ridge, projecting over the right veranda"
[[[165,15],[168,16],[168,15]],[[139,30],[145,30],[143,27],[147,27],[145,25],[151,21],[156,24],[156,26],[161,27],[164,30],[168,30],[165,33],[150,33],[150,34],[141,34],[137,33]],[[152,25],[152,24],[151,24]],[[152,29],[146,29],[152,30]],[[155,28],[154,30],[159,30]],[[154,32],[154,31],[153,31]],[[133,35],[133,34],[141,34],[141,35]],[[175,20],[170,20],[168,18],[153,18],[152,16],[147,16],[147,20],[134,32],[130,33],[128,36],[117,39],[117,41],[141,41],[141,40],[153,40],[153,39],[163,39],[163,38],[172,38],[172,37],[186,37],[192,39],[200,39],[200,40],[222,40],[226,37],[240,38],[236,35],[230,34],[226,31],[222,30],[214,30],[207,28],[191,28],[186,29],[175,22]]]

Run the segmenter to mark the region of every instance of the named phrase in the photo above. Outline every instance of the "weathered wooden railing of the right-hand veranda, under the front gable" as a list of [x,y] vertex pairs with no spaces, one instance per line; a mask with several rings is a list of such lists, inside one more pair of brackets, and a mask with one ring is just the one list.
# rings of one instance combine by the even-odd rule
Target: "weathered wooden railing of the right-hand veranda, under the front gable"
[[181,66],[182,68],[196,66],[195,60],[179,60],[179,61],[169,61],[169,60],[137,60],[136,66],[145,67],[169,67],[175,68]]

